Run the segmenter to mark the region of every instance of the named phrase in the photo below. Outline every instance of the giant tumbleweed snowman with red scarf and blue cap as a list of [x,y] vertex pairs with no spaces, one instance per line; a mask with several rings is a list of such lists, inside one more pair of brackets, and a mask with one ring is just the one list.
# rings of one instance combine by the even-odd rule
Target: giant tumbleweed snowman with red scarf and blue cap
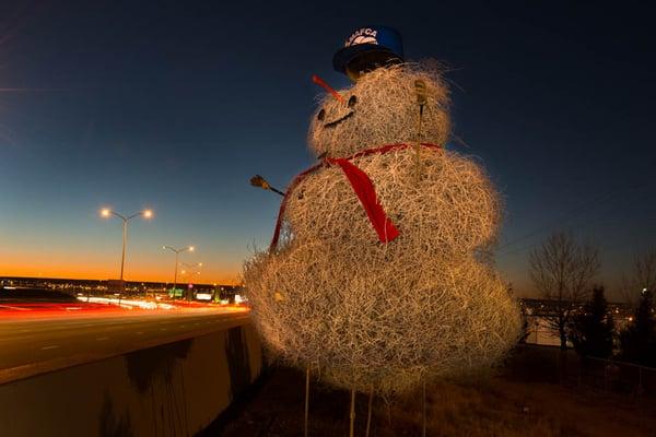
[[338,387],[402,393],[497,363],[519,314],[491,263],[499,194],[445,149],[440,67],[401,62],[368,31],[347,42],[355,61],[336,64],[351,87],[315,79],[328,91],[308,134],[318,163],[288,187],[244,282],[276,356]]

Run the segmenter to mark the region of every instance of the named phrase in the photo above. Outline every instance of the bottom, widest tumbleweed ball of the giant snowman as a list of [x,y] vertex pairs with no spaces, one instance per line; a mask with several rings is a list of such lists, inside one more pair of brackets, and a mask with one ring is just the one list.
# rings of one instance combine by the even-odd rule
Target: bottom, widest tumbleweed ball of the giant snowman
[[516,305],[473,257],[393,261],[385,246],[335,249],[313,241],[247,264],[256,324],[294,366],[318,367],[339,387],[407,392],[422,378],[487,368],[517,339]]

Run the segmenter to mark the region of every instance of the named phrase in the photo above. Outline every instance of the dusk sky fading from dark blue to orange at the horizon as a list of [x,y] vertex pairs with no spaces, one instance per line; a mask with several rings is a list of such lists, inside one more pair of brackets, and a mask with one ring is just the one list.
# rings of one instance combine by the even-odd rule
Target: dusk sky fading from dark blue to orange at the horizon
[[[94,3],[94,4],[92,4]],[[161,245],[195,244],[206,280],[265,247],[284,187],[311,163],[317,73],[363,24],[397,27],[411,60],[450,66],[450,147],[503,192],[500,267],[520,294],[530,249],[571,229],[600,246],[609,287],[656,245],[654,38],[640,3],[2,2],[0,274],[166,279]],[[145,5],[149,3],[150,5]],[[85,267],[90,265],[90,267]],[[171,272],[172,273],[172,272]]]

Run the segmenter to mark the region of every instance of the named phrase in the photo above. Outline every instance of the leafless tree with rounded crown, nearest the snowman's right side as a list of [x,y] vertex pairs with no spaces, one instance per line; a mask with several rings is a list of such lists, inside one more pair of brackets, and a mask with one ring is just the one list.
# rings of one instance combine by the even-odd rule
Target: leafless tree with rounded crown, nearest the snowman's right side
[[599,252],[578,244],[570,234],[552,234],[529,258],[530,279],[541,297],[549,300],[544,320],[567,349],[567,323],[576,306],[587,297],[590,281],[599,270]]

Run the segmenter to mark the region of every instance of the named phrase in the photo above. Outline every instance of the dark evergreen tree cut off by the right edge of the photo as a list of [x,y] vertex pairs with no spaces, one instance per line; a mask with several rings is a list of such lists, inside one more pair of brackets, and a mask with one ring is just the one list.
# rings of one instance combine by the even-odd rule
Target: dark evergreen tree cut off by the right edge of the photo
[[654,295],[645,290],[641,294],[633,321],[620,335],[622,359],[643,366],[656,367],[656,320]]

